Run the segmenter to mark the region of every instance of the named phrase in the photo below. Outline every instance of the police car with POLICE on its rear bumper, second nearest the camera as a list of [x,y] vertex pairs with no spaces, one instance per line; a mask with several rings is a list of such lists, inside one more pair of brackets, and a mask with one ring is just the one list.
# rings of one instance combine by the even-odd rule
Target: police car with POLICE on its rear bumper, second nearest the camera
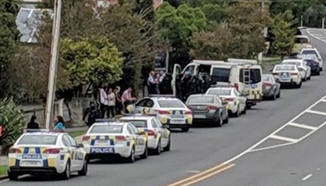
[[122,157],[129,163],[135,156],[145,159],[148,155],[144,132],[128,122],[98,120],[82,138],[88,159]]

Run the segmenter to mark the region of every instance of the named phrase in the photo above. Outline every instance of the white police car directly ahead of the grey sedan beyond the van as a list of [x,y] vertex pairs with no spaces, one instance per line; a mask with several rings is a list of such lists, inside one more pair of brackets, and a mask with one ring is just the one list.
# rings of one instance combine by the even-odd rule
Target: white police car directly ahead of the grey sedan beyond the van
[[302,77],[297,65],[294,64],[277,64],[273,69],[273,76],[276,82],[281,85],[295,85],[301,87]]

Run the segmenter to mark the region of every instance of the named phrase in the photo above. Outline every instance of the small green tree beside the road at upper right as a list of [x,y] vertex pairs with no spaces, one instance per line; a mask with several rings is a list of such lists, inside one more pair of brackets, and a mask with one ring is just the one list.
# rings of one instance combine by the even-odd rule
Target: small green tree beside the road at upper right
[[291,10],[275,16],[272,32],[275,41],[272,43],[274,53],[278,55],[289,55],[294,45],[295,30],[292,28],[297,22]]

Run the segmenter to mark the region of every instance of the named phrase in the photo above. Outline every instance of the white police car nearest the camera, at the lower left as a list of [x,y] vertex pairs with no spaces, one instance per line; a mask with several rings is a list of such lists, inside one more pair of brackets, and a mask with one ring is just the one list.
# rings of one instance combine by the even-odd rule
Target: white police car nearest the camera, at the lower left
[[67,133],[27,132],[9,149],[8,177],[17,180],[23,174],[87,174],[86,151]]

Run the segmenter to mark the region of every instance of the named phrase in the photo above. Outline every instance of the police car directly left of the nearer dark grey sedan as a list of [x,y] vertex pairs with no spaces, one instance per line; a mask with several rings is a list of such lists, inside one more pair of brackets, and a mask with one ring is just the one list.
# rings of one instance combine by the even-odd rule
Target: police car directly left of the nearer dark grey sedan
[[136,103],[135,113],[151,113],[168,128],[188,132],[192,124],[191,110],[178,98],[169,95],[150,95]]

